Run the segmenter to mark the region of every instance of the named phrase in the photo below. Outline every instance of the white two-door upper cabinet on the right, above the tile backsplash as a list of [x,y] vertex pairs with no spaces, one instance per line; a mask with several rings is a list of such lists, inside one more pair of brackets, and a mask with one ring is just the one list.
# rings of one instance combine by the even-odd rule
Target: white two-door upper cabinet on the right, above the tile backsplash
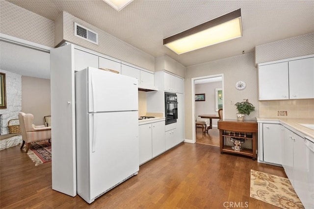
[[259,99],[314,98],[314,57],[259,64]]

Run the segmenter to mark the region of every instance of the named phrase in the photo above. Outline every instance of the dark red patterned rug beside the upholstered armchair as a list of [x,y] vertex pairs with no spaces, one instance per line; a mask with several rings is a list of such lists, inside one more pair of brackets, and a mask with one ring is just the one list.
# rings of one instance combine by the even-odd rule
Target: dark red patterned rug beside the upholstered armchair
[[[23,150],[26,151],[26,146]],[[35,163],[35,166],[51,162],[51,143],[48,140],[32,142],[27,155]]]

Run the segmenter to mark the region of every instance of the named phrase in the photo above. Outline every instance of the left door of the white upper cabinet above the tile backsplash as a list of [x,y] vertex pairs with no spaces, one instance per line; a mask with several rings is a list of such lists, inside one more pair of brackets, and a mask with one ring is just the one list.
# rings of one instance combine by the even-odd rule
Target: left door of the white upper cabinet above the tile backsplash
[[289,98],[288,62],[259,66],[260,100]]

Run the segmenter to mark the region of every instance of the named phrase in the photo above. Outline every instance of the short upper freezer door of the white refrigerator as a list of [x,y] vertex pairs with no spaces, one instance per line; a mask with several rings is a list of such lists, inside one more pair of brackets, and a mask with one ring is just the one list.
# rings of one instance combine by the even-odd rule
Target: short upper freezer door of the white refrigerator
[[138,110],[137,79],[88,67],[88,112]]

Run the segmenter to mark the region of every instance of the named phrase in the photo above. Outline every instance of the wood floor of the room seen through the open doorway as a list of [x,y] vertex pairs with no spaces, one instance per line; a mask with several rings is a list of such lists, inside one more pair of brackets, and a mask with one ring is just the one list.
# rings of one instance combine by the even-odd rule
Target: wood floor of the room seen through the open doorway
[[197,128],[196,143],[219,146],[219,129],[212,128],[208,130],[208,133],[202,133],[202,129]]

